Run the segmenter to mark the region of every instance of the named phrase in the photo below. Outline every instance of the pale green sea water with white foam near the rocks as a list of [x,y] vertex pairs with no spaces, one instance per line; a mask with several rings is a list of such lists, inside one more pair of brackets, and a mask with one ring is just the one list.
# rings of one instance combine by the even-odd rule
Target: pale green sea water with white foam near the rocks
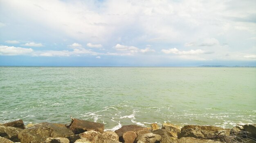
[[0,123],[256,123],[256,68],[0,67]]

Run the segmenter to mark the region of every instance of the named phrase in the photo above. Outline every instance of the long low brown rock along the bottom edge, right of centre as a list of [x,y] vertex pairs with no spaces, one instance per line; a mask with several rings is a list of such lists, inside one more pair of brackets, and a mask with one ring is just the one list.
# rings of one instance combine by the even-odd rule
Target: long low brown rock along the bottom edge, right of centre
[[180,139],[174,140],[172,143],[221,143],[221,142],[212,141],[209,139],[195,139],[193,137],[182,137]]

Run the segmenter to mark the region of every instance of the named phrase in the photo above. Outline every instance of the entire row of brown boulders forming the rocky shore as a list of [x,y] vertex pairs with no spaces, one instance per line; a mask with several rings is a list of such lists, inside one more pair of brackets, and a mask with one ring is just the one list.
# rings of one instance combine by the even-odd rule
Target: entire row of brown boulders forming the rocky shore
[[164,123],[150,128],[122,126],[106,131],[104,124],[71,118],[70,124],[24,125],[22,120],[0,124],[0,143],[256,143],[256,124],[232,129]]

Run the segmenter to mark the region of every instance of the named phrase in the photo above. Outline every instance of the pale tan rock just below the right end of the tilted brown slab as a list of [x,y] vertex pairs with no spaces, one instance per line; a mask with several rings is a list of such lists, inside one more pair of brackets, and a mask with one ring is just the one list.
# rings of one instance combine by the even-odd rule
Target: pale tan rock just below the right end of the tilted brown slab
[[104,137],[100,132],[96,132],[94,130],[90,130],[87,132],[83,132],[79,134],[79,137],[81,139],[88,139],[88,141],[92,143],[103,143],[104,142]]

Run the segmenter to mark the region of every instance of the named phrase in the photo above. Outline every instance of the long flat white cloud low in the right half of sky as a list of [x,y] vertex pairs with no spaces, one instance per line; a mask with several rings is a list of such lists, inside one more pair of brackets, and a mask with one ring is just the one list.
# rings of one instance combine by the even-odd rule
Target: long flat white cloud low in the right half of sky
[[201,50],[201,49],[180,51],[177,48],[171,48],[168,50],[162,49],[161,51],[165,54],[177,54],[177,55],[198,55],[198,54],[211,54],[212,53],[212,52],[205,52],[204,50]]

